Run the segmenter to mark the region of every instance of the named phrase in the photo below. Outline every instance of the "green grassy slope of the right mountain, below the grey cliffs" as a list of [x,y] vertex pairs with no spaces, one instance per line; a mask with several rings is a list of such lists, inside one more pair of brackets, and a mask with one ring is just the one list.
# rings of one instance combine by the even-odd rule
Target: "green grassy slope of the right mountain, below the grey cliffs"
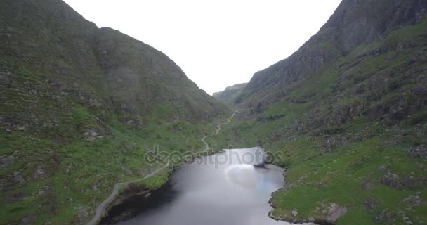
[[[390,121],[360,112],[341,124],[317,126],[315,122],[337,120],[334,110],[341,108],[366,104],[369,112],[387,105],[390,99],[414,103],[425,98],[413,90],[416,86],[426,88],[426,25],[426,20],[407,25],[369,46],[359,46],[258,115],[284,117],[270,122],[237,117],[224,127],[218,136],[223,146],[262,145],[284,153],[282,165],[289,167],[288,183],[272,196],[272,217],[324,219],[327,213],[322,211],[336,203],[348,210],[337,224],[405,224],[406,217],[414,224],[426,223],[427,162],[409,154],[409,150],[427,145],[425,107],[409,113],[405,120]],[[408,42],[418,44],[410,46]],[[372,53],[393,44],[402,47]],[[355,65],[345,64],[358,61],[360,56],[366,58]],[[414,58],[417,63],[411,63]],[[376,89],[360,95],[353,92],[358,85],[374,86],[372,77],[381,77]],[[381,91],[390,84],[393,89]],[[341,91],[337,93],[337,89]],[[379,97],[372,99],[374,95]],[[298,130],[300,124],[304,126]],[[400,188],[383,182],[388,173],[397,175],[394,179]],[[298,209],[295,218],[291,216],[294,209]]]

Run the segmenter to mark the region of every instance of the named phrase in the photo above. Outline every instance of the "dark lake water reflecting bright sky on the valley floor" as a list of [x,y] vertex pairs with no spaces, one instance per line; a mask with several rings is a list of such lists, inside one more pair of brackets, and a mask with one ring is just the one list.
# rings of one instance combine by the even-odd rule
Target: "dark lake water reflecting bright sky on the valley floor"
[[[268,217],[272,192],[284,186],[280,169],[254,167],[261,148],[226,150],[183,165],[150,198],[113,207],[103,224],[289,224]],[[124,221],[119,219],[129,218]]]

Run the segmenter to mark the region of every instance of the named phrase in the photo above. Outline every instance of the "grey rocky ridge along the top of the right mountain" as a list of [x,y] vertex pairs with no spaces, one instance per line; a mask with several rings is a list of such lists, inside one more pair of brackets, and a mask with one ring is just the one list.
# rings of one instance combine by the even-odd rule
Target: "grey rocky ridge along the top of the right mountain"
[[[357,6],[357,4],[360,4],[360,6]],[[391,17],[393,18],[392,22],[382,20],[376,21],[374,16],[376,14],[372,13],[381,11],[381,6],[384,4],[393,5],[393,8],[390,10],[391,12],[380,17],[380,19]],[[396,4],[398,6],[395,6]],[[348,10],[348,8],[357,8],[357,12],[362,11],[363,13],[359,16],[356,11]],[[386,30],[393,29],[393,27],[398,27],[398,25],[403,25],[405,23],[420,22],[421,18],[425,18],[426,16],[423,8],[426,8],[425,1],[410,1],[409,4],[406,4],[405,1],[392,1],[391,3],[388,1],[376,1],[375,3],[372,1],[341,2],[335,13],[331,15],[331,18],[322,26],[320,31],[306,41],[298,51],[288,58],[271,65],[269,68],[256,72],[251,82],[249,82],[244,89],[243,94],[237,98],[237,102],[243,101],[244,98],[249,98],[251,92],[254,91],[252,89],[256,89],[256,87],[259,87],[261,84],[264,87],[270,86],[273,89],[276,86],[284,84],[291,86],[292,83],[301,81],[301,78],[304,78],[304,76],[313,74],[313,71],[320,69],[330,60],[334,60],[340,56],[346,56],[348,51],[352,51],[354,47],[360,45],[360,43],[370,43],[374,41],[373,38],[376,37],[375,35],[378,32],[386,32]],[[407,15],[409,18],[405,18],[406,11],[411,11],[413,16]],[[348,15],[349,13],[350,15]],[[416,16],[414,14],[416,14]],[[357,18],[357,21],[353,21],[351,18]],[[340,23],[341,20],[344,22]],[[366,27],[364,24],[369,24],[369,27],[372,28]],[[382,24],[389,25],[390,27],[381,27]],[[358,32],[350,32],[349,30],[352,29],[358,29]],[[333,39],[333,41],[331,42],[329,39]],[[340,49],[341,52],[338,51],[338,49]],[[307,58],[302,58],[303,56]],[[300,68],[300,70],[296,70],[295,68]],[[284,72],[284,74],[282,77],[279,77],[281,72]],[[275,75],[270,76],[270,79],[262,79],[265,73]],[[271,101],[278,101],[283,95],[286,95],[285,91],[277,92],[278,94],[272,96],[273,98],[270,98],[271,96],[266,98],[272,99]],[[265,102],[268,103],[269,101]],[[253,107],[254,105],[251,106]]]

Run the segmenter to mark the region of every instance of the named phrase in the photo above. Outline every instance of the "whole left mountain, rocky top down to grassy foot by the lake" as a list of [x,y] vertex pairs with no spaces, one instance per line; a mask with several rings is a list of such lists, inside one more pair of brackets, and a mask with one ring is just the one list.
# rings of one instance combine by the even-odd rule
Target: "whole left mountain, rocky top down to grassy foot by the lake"
[[159,167],[145,152],[203,150],[230,113],[164,53],[63,1],[0,11],[1,224],[85,224],[115,183]]

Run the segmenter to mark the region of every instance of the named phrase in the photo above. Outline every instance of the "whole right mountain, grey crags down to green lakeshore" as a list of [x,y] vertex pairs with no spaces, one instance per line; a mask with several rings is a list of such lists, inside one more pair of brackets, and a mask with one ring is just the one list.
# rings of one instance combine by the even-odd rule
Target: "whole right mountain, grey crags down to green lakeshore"
[[283,155],[270,217],[427,222],[426,15],[427,1],[343,0],[298,51],[254,74],[221,140]]

